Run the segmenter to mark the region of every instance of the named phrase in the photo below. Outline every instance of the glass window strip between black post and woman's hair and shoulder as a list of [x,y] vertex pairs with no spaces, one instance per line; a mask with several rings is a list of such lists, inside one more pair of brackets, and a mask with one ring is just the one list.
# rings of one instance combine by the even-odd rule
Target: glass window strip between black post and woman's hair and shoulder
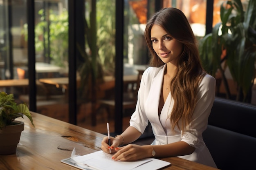
[[151,11],[155,12],[153,2],[155,1],[128,0],[124,5],[123,130],[129,126],[130,116],[135,111],[141,74],[148,67],[144,30],[148,15]]

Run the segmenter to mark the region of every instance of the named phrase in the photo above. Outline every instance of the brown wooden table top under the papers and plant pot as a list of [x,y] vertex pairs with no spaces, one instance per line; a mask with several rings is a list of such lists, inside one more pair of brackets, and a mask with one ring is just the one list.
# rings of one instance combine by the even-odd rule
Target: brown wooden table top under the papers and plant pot
[[[103,134],[38,113],[32,112],[32,117],[35,128],[27,117],[17,119],[25,122],[25,130],[16,154],[0,155],[0,170],[76,170],[61,163],[71,156],[74,147],[79,155],[101,150]],[[216,170],[178,157],[162,160],[171,162],[165,170]]]

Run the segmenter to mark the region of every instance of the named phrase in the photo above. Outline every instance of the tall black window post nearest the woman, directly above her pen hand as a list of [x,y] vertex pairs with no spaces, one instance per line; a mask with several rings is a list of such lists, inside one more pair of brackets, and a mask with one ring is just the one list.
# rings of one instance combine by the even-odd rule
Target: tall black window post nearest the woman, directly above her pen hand
[[124,0],[116,0],[115,35],[115,132],[123,127],[123,49],[124,49]]

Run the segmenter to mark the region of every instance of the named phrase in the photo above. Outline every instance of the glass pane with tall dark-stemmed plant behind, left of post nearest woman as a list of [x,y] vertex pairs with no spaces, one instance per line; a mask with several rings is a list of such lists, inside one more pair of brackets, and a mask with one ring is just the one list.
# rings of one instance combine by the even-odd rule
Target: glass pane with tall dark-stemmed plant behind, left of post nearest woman
[[[84,44],[78,73],[78,125],[106,133],[114,131],[115,0],[85,0]],[[107,17],[106,17],[107,16]],[[98,128],[102,127],[103,128]]]

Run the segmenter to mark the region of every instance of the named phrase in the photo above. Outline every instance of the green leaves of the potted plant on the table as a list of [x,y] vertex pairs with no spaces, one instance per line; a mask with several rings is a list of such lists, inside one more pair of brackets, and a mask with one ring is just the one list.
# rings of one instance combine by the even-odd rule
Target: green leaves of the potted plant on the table
[[5,92],[0,93],[0,129],[10,125],[17,117],[27,116],[34,126],[31,113],[27,104],[16,104],[13,94],[7,95]]

